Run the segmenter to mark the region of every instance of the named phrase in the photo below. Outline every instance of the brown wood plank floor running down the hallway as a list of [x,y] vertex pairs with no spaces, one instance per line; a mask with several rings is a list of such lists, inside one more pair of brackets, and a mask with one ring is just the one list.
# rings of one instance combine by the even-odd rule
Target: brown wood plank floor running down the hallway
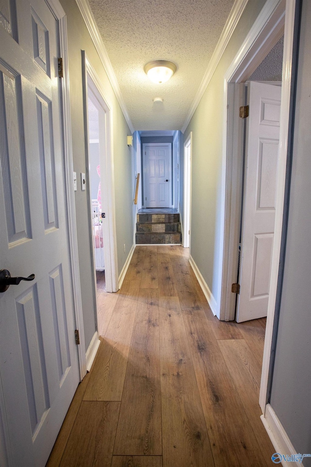
[[47,467],[271,466],[264,318],[219,322],[177,245],[137,246],[98,305],[102,342]]

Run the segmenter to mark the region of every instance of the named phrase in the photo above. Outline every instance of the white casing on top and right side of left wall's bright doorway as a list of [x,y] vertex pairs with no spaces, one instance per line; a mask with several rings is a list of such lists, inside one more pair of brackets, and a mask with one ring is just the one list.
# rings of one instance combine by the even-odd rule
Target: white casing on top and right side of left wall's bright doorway
[[[97,76],[94,68],[90,64],[84,51],[82,51],[83,62],[85,63],[85,83],[84,92],[87,108],[87,86],[91,86],[93,93],[98,94],[100,104],[105,112],[105,160],[104,174],[101,174],[102,196],[105,200],[104,209],[106,211],[104,229],[104,260],[105,260],[105,281],[106,291],[116,292],[119,289],[118,284],[118,262],[117,262],[117,233],[116,233],[116,209],[115,209],[115,188],[114,188],[114,158],[113,158],[113,115],[112,106],[109,103],[109,98],[106,91]],[[87,137],[87,136],[86,136]],[[88,142],[86,142],[88,148]],[[102,203],[103,207],[103,203]],[[91,233],[90,233],[91,234]]]

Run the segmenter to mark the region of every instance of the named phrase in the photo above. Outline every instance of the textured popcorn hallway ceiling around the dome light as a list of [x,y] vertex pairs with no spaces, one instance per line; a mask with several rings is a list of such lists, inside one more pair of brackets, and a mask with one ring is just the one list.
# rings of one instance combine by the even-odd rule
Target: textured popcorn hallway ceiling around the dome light
[[[234,0],[88,2],[135,129],[180,129]],[[152,60],[170,60],[177,71],[153,84],[143,70]]]

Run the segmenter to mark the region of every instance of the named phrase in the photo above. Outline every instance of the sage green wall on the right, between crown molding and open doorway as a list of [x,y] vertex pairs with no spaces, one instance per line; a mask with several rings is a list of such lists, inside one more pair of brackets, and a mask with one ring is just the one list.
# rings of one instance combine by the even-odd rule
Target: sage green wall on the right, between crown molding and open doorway
[[[184,132],[192,131],[190,253],[217,306],[220,301],[221,175],[224,77],[265,0],[249,0],[207,89]],[[216,311],[216,310],[215,310]]]

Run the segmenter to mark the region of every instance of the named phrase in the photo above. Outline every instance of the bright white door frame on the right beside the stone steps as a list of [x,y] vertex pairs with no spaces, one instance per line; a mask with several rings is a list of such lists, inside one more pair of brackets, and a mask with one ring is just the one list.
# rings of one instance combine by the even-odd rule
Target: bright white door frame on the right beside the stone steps
[[[190,147],[190,151],[189,151]],[[183,247],[191,245],[191,166],[192,166],[192,131],[184,142],[184,213],[183,213]],[[188,232],[188,234],[186,234]]]

